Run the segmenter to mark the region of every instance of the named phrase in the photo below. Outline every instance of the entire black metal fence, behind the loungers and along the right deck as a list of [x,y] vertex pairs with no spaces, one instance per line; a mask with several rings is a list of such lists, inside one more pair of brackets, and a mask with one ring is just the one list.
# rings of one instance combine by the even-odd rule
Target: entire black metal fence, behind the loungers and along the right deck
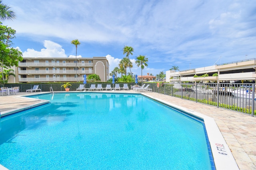
[[[70,83],[70,91],[76,91],[81,83]],[[87,83],[85,88],[90,88],[91,84],[102,84],[102,88],[106,88],[107,84],[111,84],[111,87],[115,85],[112,83]],[[116,83],[123,87],[123,84],[128,84],[129,89],[135,83]],[[140,83],[138,83],[141,85]],[[148,88],[152,89],[152,92],[169,95],[184,100],[190,100],[202,104],[207,104],[215,107],[221,107],[224,109],[230,109],[244,114],[256,115],[255,99],[255,84],[231,84],[231,83],[160,83],[159,87],[157,83],[149,84]],[[4,86],[20,87],[20,92],[26,92],[27,89],[33,88],[35,84],[5,84]],[[36,84],[42,92],[50,92],[50,87],[54,91],[65,91],[62,84]]]

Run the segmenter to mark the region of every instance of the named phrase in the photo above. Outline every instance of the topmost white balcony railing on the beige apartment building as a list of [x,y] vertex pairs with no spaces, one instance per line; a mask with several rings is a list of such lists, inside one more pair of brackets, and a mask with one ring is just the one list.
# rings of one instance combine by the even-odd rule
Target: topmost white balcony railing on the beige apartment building
[[92,67],[93,63],[19,63],[19,66],[61,66],[61,67]]

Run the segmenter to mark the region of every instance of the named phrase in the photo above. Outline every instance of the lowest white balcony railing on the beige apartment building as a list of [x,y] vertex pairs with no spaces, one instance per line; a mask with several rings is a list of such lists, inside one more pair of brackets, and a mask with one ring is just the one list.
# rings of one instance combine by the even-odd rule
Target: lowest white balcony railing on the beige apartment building
[[[78,77],[78,81],[84,81],[84,78]],[[76,82],[75,77],[66,78],[19,78],[19,82]]]

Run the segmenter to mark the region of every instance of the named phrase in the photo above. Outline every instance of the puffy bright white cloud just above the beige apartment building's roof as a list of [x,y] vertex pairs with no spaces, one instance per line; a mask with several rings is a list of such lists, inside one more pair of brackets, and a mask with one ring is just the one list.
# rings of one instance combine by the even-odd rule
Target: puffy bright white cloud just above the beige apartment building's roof
[[41,51],[27,49],[23,52],[23,57],[67,57],[65,50],[57,43],[45,40],[44,47],[45,49],[41,49]]

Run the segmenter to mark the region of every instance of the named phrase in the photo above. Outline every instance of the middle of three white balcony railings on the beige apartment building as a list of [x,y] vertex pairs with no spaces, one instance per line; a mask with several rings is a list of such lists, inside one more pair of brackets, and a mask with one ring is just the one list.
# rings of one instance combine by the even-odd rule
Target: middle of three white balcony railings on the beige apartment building
[[18,74],[93,74],[93,70],[18,70]]

